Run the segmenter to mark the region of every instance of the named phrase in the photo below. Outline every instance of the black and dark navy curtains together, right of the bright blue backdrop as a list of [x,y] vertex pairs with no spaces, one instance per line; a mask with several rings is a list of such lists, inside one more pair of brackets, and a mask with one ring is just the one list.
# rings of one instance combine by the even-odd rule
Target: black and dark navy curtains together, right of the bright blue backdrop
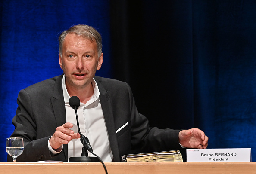
[[255,156],[255,9],[253,0],[112,1],[114,78],[131,85],[151,126],[197,127],[209,148]]

